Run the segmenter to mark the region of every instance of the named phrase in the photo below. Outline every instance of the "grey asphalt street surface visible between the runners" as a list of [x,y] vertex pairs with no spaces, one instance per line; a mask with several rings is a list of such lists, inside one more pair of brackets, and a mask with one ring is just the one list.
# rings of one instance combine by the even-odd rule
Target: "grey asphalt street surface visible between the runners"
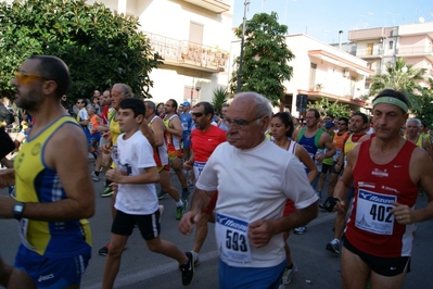
[[[90,166],[92,167],[92,164]],[[99,197],[103,190],[103,180],[102,175],[101,180],[94,183],[97,213],[90,219],[93,254],[82,279],[82,289],[101,288],[105,256],[100,256],[98,250],[109,242],[112,222],[110,198]],[[176,175],[173,175],[173,183],[176,188],[180,189]],[[160,186],[157,186],[158,189]],[[0,190],[0,194],[8,194],[8,190]],[[426,197],[420,197],[417,206],[424,206],[425,203]],[[162,239],[176,243],[182,251],[190,251],[195,233],[191,236],[183,236],[178,231],[175,202],[168,194],[160,201],[160,204],[166,209],[162,217]],[[334,213],[330,214],[320,210],[319,216],[307,226],[308,229],[304,235],[292,235],[289,238],[293,261],[298,266],[298,272],[285,288],[342,288],[340,256],[324,250],[326,244],[333,238],[333,219]],[[413,242],[412,272],[407,275],[404,288],[433,288],[430,263],[430,257],[433,255],[432,240],[433,222],[418,224]],[[18,242],[16,221],[0,221],[0,254],[7,263],[13,264]],[[218,288],[218,253],[213,224],[209,224],[209,234],[200,253],[200,261],[201,264],[195,268],[195,276],[189,288]],[[173,289],[183,288],[183,286],[177,262],[150,252],[144,240],[141,239],[140,233],[135,230],[128,240],[127,250],[123,254],[115,288]]]

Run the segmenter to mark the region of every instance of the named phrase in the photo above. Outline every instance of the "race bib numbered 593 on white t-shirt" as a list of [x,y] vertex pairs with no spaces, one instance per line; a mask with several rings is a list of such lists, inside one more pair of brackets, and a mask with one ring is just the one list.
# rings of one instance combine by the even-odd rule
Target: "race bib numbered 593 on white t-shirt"
[[241,264],[252,262],[247,233],[247,222],[217,213],[215,236],[222,261]]

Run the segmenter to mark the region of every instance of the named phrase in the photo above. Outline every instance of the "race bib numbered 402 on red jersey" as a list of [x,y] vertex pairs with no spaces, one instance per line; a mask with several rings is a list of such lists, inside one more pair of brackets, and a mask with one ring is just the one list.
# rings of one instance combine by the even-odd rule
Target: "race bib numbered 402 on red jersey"
[[359,189],[355,226],[378,235],[392,235],[394,215],[391,213],[396,196]]

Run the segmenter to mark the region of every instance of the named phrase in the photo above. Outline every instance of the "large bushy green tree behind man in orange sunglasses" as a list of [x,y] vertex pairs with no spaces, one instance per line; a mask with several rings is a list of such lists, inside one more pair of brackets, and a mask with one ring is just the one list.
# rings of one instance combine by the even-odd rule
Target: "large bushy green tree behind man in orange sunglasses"
[[149,74],[160,64],[138,20],[116,16],[103,4],[85,0],[22,0],[0,3],[0,87],[13,97],[13,73],[31,54],[51,54],[68,65],[69,96],[128,84],[136,95],[151,97]]

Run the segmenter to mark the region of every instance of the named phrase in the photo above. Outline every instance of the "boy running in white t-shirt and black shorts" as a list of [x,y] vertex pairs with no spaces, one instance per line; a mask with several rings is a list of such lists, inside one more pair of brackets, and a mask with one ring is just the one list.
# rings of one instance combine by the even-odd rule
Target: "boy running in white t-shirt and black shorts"
[[149,250],[179,262],[182,285],[194,276],[194,259],[181,252],[174,243],[160,238],[160,210],[155,181],[160,179],[152,146],[140,131],[145,106],[142,100],[127,98],[118,104],[117,121],[122,131],[117,138],[117,164],[106,172],[116,189],[116,215],[112,225],[112,239],[105,262],[102,288],[111,289],[120,267],[120,257],[133,227],[137,225]]

